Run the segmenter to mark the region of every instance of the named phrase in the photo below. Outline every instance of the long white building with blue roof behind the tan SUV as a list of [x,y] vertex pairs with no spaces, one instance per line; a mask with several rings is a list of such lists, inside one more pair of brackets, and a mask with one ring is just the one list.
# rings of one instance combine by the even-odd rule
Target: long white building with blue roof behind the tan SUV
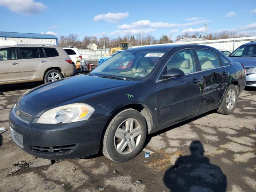
[[58,44],[58,38],[56,36],[41,33],[0,32],[0,40],[15,41],[17,44]]

